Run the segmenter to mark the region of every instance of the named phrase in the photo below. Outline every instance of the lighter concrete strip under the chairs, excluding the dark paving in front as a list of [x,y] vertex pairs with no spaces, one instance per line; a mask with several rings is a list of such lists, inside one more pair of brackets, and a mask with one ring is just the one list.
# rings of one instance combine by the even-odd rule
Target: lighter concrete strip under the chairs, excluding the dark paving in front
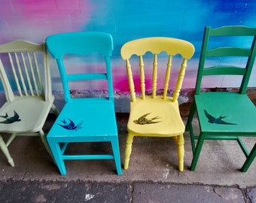
[[[126,142],[128,114],[117,114],[120,155],[123,163]],[[55,120],[50,115],[45,131]],[[186,122],[186,117],[184,117]],[[197,122],[197,120],[194,120]],[[6,141],[7,135],[3,135]],[[246,173],[239,171],[245,156],[236,141],[206,141],[196,171],[190,171],[192,150],[187,132],[185,139],[184,171],[178,171],[176,147],[172,138],[135,138],[130,167],[117,176],[112,160],[71,160],[66,161],[66,176],[59,174],[40,138],[16,138],[9,146],[15,167],[8,165],[0,153],[0,180],[90,180],[121,183],[123,181],[152,181],[160,183],[203,184],[218,186],[256,187],[256,161]],[[245,138],[249,150],[256,138]],[[109,144],[71,144],[68,150],[109,151]]]

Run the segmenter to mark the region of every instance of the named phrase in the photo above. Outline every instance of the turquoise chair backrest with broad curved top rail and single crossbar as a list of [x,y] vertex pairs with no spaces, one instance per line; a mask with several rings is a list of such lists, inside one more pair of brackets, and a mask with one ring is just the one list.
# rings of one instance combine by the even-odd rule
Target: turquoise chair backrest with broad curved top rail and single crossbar
[[[107,80],[108,98],[114,101],[111,78],[110,57],[113,50],[111,35],[105,32],[67,32],[50,35],[46,38],[47,49],[56,59],[62,80],[65,102],[71,98],[69,82],[78,80]],[[94,70],[93,72],[68,73],[63,62],[65,55],[86,56],[98,53],[105,59],[105,71]]]

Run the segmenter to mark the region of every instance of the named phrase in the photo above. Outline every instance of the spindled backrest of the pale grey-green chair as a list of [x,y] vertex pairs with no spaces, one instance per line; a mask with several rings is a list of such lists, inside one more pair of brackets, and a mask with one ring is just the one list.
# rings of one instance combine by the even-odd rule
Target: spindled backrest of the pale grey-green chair
[[52,97],[45,44],[12,41],[0,45],[0,77],[8,102],[14,95]]

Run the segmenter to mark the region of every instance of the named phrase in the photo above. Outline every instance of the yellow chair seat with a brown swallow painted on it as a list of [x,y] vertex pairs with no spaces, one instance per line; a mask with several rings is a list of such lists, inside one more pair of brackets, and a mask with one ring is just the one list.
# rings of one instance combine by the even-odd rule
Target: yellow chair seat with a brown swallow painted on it
[[[184,123],[179,113],[178,101],[172,102],[172,98],[166,98],[166,100],[160,96],[156,98],[146,97],[144,100],[136,98],[136,102],[131,102],[130,109],[127,128],[136,136],[166,137],[184,133]],[[148,120],[157,118],[152,120],[153,123],[150,124],[138,124],[139,117],[145,114],[148,114],[145,117]]]

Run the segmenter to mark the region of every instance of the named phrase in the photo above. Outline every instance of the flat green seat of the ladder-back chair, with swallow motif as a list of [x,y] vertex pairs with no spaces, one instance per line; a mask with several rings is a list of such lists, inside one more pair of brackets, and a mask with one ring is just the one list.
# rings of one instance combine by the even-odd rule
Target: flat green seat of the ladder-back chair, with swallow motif
[[[207,135],[224,132],[225,135],[242,133],[255,136],[256,108],[247,95],[238,92],[201,92],[195,95],[195,102],[200,129]],[[222,116],[221,120],[227,124],[210,123],[204,110],[212,117]]]

